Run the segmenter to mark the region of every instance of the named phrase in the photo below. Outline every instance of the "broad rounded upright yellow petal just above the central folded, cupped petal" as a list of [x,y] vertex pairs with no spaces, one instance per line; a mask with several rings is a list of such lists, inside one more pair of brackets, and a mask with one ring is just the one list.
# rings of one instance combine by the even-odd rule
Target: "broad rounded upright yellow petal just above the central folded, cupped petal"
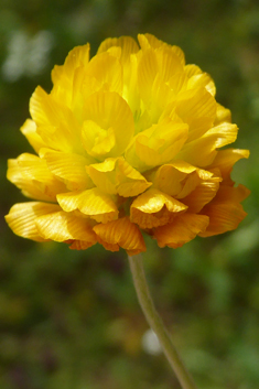
[[[87,120],[83,130],[84,145],[88,149],[84,141],[86,139],[90,139],[94,147],[99,143],[102,144],[104,139],[111,142],[107,149],[110,149],[110,151],[105,152],[104,148],[101,148],[98,152],[98,149],[94,149],[93,147],[91,150],[88,150],[88,153],[99,160],[120,155],[134,133],[133,116],[122,97],[116,93],[98,91],[86,100],[84,115],[85,120]],[[93,122],[96,125],[95,128],[93,127]],[[88,125],[89,134],[87,134]],[[102,131],[105,131],[105,133],[102,133]],[[110,144],[112,145],[111,148]]]

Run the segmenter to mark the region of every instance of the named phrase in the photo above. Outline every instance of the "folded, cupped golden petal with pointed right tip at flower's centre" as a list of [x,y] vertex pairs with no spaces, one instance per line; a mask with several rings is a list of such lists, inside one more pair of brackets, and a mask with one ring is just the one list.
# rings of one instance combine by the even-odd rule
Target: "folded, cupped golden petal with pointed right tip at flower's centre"
[[122,158],[93,164],[87,172],[100,191],[123,197],[137,196],[152,185]]

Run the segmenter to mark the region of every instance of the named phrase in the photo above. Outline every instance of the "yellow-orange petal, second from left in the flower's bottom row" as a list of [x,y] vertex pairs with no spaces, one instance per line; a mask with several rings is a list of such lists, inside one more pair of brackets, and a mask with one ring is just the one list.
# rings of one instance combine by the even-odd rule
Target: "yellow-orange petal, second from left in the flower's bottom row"
[[44,239],[55,241],[82,240],[88,245],[90,244],[90,246],[97,242],[96,234],[93,231],[88,219],[67,214],[64,210],[39,216],[35,224]]

